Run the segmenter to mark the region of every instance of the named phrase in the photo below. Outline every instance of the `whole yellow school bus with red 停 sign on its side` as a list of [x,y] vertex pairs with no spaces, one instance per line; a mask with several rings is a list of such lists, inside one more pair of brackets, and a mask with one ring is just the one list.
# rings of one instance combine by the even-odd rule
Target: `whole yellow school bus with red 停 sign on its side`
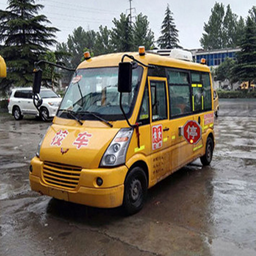
[[210,164],[210,71],[143,48],[86,56],[31,161],[30,185],[41,195],[134,214],[157,182],[197,158]]

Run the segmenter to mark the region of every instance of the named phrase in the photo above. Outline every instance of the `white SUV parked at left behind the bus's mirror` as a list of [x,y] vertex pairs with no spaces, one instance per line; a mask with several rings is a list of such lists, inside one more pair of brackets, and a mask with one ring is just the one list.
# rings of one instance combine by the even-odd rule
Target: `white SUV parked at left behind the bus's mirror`
[[[41,89],[40,96],[42,98],[40,106],[42,116],[46,119],[54,117],[62,98],[50,89]],[[33,103],[32,88],[13,89],[8,101],[8,111],[16,120],[22,119],[23,115],[39,116]]]

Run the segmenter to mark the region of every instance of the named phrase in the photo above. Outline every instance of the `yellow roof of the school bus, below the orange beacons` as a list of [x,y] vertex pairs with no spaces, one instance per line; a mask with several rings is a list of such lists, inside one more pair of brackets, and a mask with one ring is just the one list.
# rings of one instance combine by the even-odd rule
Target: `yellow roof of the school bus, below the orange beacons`
[[[166,56],[161,56],[154,53],[146,53],[144,56],[140,56],[138,52],[125,52],[125,53],[110,53],[106,55],[100,55],[92,57],[88,60],[81,62],[77,69],[85,68],[99,68],[99,67],[117,67],[118,63],[124,54],[132,55],[142,63],[146,65],[157,65],[170,68],[188,69],[210,72],[209,67],[200,63],[179,60]],[[125,57],[124,61],[131,61],[131,59]]]

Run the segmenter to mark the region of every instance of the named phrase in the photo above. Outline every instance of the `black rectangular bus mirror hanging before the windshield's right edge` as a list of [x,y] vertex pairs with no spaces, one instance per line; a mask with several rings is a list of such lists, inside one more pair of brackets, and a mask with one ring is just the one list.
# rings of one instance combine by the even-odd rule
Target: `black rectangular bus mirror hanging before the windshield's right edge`
[[120,62],[118,69],[118,92],[130,93],[132,91],[132,70],[131,62]]

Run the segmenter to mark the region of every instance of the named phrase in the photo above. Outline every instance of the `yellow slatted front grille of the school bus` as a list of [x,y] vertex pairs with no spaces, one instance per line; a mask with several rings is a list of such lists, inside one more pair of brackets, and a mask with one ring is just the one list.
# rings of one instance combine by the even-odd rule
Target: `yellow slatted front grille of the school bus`
[[42,174],[44,180],[51,185],[74,189],[79,182],[81,169],[73,165],[44,162]]

